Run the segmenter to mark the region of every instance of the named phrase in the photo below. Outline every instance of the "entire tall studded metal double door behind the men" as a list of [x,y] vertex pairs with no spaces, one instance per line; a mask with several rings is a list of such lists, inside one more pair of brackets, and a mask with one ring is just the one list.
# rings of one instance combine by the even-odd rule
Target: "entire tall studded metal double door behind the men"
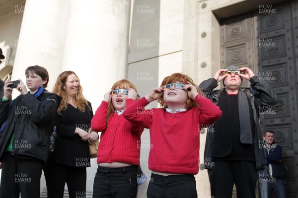
[[[277,94],[274,106],[260,109],[260,124],[263,131],[274,131],[283,148],[287,198],[296,198],[298,193],[297,4],[285,1],[267,6],[270,13],[254,10],[221,21],[222,68],[249,67]],[[242,85],[248,86],[247,81]]]

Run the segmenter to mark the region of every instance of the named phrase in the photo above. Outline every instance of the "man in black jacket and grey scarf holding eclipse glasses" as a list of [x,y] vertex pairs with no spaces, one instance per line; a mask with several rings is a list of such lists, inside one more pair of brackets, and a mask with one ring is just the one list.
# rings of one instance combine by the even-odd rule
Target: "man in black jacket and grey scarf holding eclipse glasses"
[[[250,88],[240,88],[243,78],[250,81]],[[224,88],[213,91],[222,80]],[[220,69],[199,87],[223,111],[217,122],[205,126],[209,130],[204,159],[212,197],[231,198],[235,184],[238,198],[255,198],[257,170],[264,169],[258,110],[273,105],[275,93],[251,69],[233,65]]]

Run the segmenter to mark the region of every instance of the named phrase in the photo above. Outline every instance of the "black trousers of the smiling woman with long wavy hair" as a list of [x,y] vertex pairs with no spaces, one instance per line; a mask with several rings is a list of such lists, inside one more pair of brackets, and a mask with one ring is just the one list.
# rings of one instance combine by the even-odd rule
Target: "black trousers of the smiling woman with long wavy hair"
[[70,198],[86,197],[87,173],[85,167],[73,167],[49,162],[44,169],[44,173],[48,198],[63,198],[65,183]]

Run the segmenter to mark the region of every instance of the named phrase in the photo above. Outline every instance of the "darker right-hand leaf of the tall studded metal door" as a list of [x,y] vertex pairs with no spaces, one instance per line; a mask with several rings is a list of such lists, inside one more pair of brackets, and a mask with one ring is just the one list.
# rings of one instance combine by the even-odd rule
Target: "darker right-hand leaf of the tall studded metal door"
[[[262,109],[261,127],[275,133],[275,141],[283,147],[287,167],[287,198],[296,198],[297,170],[297,65],[291,2],[272,6],[275,13],[258,18],[259,78],[273,87],[277,103]],[[295,141],[296,140],[296,141]]]

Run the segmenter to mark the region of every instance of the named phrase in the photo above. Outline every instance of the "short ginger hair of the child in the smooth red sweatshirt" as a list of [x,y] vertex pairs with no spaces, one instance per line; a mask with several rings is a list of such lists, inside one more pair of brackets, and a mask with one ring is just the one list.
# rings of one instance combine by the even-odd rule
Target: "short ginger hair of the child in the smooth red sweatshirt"
[[[192,85],[194,85],[197,88],[198,93],[201,94],[201,89],[193,82],[193,80],[188,75],[182,74],[182,73],[174,73],[170,76],[165,77],[162,80],[160,87],[169,83],[174,83],[175,81],[181,82],[183,84],[188,84],[187,83],[188,81]],[[167,108],[167,104],[163,100],[163,95],[161,95],[157,99],[157,102],[159,102],[163,108]],[[185,108],[191,109],[192,107],[195,107],[195,106],[199,106],[199,104],[194,99],[191,99],[187,96]]]

